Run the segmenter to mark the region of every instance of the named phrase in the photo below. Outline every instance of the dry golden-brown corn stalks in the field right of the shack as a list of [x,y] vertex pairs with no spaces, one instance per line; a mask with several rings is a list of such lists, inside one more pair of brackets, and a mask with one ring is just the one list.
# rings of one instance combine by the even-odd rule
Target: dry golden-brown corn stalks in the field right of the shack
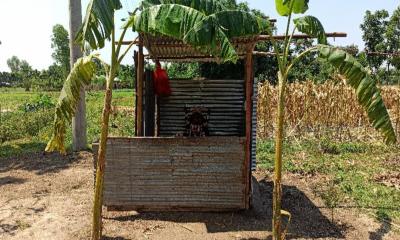
[[[393,127],[400,135],[400,87],[381,88]],[[271,138],[276,118],[278,89],[271,84],[259,86],[258,137]],[[288,137],[313,135],[334,137],[338,140],[376,139],[363,108],[358,104],[352,88],[342,83],[292,83],[286,95]]]

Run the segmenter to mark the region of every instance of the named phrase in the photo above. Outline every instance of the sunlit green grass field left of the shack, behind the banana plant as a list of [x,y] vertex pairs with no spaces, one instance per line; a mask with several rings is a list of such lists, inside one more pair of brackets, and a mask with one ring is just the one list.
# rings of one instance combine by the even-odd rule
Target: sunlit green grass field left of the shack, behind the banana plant
[[[51,97],[55,103],[58,92],[24,92],[22,90],[0,89],[0,108],[8,112],[0,115],[0,157],[17,156],[44,150],[51,137],[53,109],[36,112],[23,112],[20,106],[35,101],[40,94]],[[103,91],[91,91],[86,94],[86,117],[89,148],[100,135],[101,112],[103,109]],[[113,106],[133,108],[133,90],[115,90]],[[11,112],[10,112],[11,111]],[[110,117],[111,136],[133,136],[134,115],[132,111],[120,111]],[[8,140],[4,141],[3,137]],[[1,140],[3,139],[3,140]],[[71,128],[67,129],[66,145],[72,142]]]

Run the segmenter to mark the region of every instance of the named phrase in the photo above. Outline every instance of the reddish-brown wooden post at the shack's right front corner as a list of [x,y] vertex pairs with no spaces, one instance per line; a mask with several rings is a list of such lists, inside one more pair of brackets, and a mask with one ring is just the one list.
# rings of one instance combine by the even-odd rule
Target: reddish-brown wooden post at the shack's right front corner
[[246,82],[246,159],[244,171],[246,174],[246,209],[250,207],[250,189],[251,189],[251,130],[253,114],[253,51],[248,51],[245,60],[245,82]]

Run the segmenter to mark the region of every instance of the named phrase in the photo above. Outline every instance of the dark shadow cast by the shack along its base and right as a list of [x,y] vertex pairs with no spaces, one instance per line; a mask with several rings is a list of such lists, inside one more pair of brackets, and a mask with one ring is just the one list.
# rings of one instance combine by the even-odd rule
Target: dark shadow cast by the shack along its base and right
[[[256,183],[256,184],[254,184]],[[143,212],[129,216],[108,218],[111,221],[170,221],[176,223],[201,222],[209,233],[235,231],[271,232],[273,183],[254,181],[253,209],[228,213]],[[292,214],[288,239],[344,238],[347,227],[326,218],[313,202],[297,187],[283,187],[283,208]],[[257,238],[250,238],[256,240]],[[248,240],[250,240],[248,239]]]

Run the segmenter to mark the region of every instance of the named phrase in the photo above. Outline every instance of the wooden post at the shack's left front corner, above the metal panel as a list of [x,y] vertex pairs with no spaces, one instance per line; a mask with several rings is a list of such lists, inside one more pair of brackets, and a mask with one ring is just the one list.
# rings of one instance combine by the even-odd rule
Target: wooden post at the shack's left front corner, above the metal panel
[[139,53],[137,66],[137,102],[136,102],[136,136],[143,136],[143,78],[144,78],[144,55],[143,55],[143,37],[139,37]]

